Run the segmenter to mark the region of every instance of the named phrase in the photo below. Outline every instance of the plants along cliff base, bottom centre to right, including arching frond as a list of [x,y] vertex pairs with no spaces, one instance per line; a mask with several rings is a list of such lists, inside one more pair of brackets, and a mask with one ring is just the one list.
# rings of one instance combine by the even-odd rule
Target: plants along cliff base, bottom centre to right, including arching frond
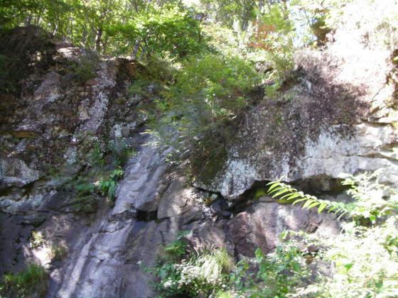
[[[379,175],[377,171],[346,179],[343,184],[350,186],[348,194],[354,202],[338,206],[281,182],[269,184],[274,197],[303,202],[303,208],[346,212],[352,221],[343,223],[343,233],[337,238],[282,233],[274,253],[264,255],[257,249],[255,263],[240,260],[236,265],[215,260],[217,252],[189,253],[185,243],[177,240],[170,246],[174,257],[163,258],[150,272],[161,278],[158,289],[166,292],[166,297],[197,297],[199,293],[213,293],[215,297],[397,297],[397,191],[381,185]],[[289,234],[304,237],[306,244],[297,243],[297,237],[287,240]],[[310,250],[308,243],[314,249]],[[303,244],[308,248],[301,251],[298,247],[302,249]],[[230,260],[225,252],[220,255]],[[313,260],[331,263],[333,275],[320,275],[314,280],[315,272],[306,265]],[[229,264],[223,265],[228,278],[222,270],[217,271],[220,268],[215,264],[221,263]]]

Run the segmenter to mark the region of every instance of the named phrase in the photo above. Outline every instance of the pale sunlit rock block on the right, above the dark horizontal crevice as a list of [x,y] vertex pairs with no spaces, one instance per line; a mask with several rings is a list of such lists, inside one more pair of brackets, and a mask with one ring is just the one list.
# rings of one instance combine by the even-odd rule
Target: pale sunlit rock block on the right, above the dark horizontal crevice
[[283,94],[249,111],[224,167],[195,185],[237,199],[256,181],[333,180],[384,168],[381,181],[397,186],[397,82],[387,79],[397,65],[390,55],[338,43],[298,53]]

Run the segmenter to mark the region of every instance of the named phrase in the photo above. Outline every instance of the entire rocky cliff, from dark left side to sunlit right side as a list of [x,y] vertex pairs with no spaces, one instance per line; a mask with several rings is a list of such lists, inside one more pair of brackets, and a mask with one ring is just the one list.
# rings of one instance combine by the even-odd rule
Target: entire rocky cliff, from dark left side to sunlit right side
[[[0,274],[41,263],[48,298],[156,297],[142,266],[154,265],[181,231],[192,231],[196,250],[224,247],[237,260],[270,252],[286,229],[339,233],[332,214],[267,197],[265,182],[281,175],[330,200],[341,199],[328,191],[344,173],[384,167],[382,180],[398,182],[398,114],[385,101],[396,86],[384,77],[397,70],[385,53],[372,61],[335,57],[331,48],[302,53],[283,95],[247,113],[217,175],[191,183],[166,162],[168,148],[140,134],[146,99],[127,91],[136,62],[100,60],[38,28],[10,34],[7,46],[36,50],[24,56],[33,67],[8,82],[0,101]],[[34,43],[18,42],[26,35]],[[0,54],[11,55],[1,46]],[[106,143],[115,155],[132,144],[136,155],[123,165],[114,202],[97,195],[97,209],[76,209],[75,184],[112,163],[100,152]]]

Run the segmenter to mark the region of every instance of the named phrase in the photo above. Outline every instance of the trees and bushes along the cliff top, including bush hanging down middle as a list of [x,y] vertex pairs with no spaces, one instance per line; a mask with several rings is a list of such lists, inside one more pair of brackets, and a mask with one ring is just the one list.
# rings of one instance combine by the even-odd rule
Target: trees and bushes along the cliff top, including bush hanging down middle
[[[129,92],[146,98],[141,109],[153,133],[188,153],[191,174],[210,180],[247,107],[261,97],[279,98],[297,49],[324,45],[327,33],[341,26],[365,43],[397,47],[397,13],[380,1],[366,2],[381,11],[377,18],[362,20],[371,10],[359,0],[5,1],[0,31],[41,26],[95,51],[71,67],[81,83],[95,75],[100,55],[139,61],[145,70]],[[363,13],[348,17],[342,6]],[[1,53],[0,64],[8,59]]]

